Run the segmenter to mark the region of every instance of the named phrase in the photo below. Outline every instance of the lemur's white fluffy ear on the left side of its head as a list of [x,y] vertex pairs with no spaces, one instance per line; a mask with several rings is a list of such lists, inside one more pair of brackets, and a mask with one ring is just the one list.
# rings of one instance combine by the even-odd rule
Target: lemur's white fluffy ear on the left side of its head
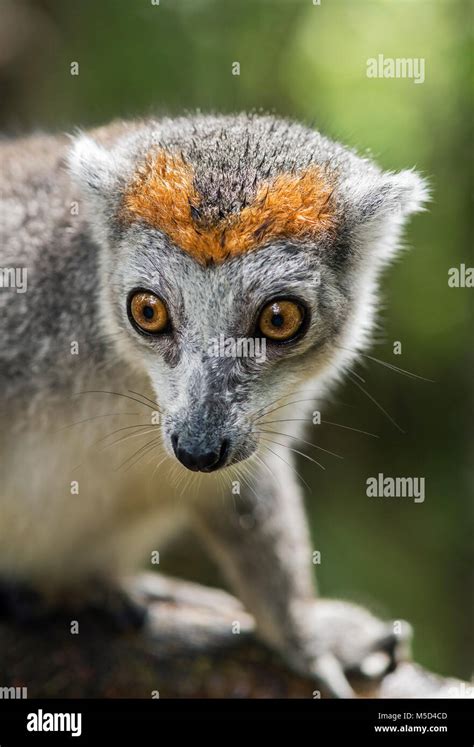
[[122,154],[107,150],[87,135],[74,140],[67,162],[76,183],[95,198],[113,197],[129,168]]

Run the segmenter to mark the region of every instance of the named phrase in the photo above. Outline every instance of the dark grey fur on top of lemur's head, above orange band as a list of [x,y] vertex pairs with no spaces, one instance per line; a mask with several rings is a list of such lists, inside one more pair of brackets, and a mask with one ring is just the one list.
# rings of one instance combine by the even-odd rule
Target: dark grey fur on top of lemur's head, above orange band
[[142,158],[150,149],[165,148],[193,166],[201,196],[194,217],[202,225],[240,212],[253,202],[258,187],[278,174],[320,166],[334,176],[343,165],[347,176],[348,166],[356,170],[362,163],[365,171],[376,173],[369,161],[354,156],[351,164],[350,151],[318,132],[276,117],[196,116],[150,125],[156,129],[140,144]]

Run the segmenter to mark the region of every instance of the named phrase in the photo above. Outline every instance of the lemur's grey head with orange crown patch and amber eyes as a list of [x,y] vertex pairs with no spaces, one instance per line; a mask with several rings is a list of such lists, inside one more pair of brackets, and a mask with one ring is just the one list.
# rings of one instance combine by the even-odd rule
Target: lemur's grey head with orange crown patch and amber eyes
[[70,168],[102,248],[103,323],[148,373],[169,450],[202,471],[251,456],[257,415],[354,358],[427,196],[414,172],[270,116],[80,136]]

